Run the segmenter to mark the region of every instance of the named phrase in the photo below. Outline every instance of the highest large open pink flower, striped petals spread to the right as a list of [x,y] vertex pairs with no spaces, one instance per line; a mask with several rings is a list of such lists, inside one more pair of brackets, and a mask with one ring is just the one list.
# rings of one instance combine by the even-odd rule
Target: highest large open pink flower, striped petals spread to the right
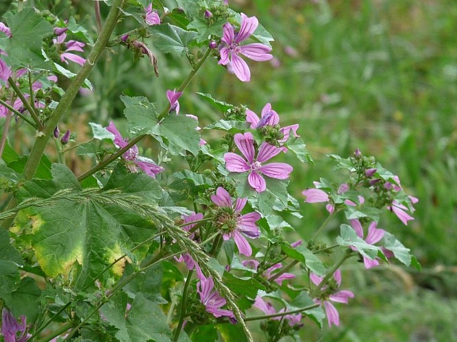
[[240,42],[249,38],[256,31],[257,27],[257,18],[255,16],[248,18],[244,13],[241,13],[241,24],[238,32],[235,32],[234,27],[230,23],[225,23],[223,26],[222,43],[219,47],[221,53],[219,64],[226,65],[227,70],[234,73],[243,82],[249,82],[251,71],[246,62],[238,56],[239,54],[259,62],[273,58],[269,54],[271,48],[267,47],[267,45],[260,43],[240,45]]

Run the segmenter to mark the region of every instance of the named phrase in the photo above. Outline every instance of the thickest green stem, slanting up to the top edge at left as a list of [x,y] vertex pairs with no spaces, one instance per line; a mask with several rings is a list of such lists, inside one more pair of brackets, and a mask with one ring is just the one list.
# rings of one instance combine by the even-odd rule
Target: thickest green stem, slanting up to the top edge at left
[[[64,116],[67,109],[69,109],[71,103],[75,99],[79,88],[81,88],[84,80],[88,77],[90,71],[94,67],[95,63],[99,59],[101,53],[105,50],[106,43],[110,39],[112,30],[116,26],[117,19],[119,16],[119,8],[122,6],[123,0],[113,0],[112,7],[110,9],[110,13],[108,14],[108,18],[106,18],[106,22],[103,25],[103,29],[99,35],[99,38],[94,44],[92,51],[90,51],[89,56],[86,60],[86,63],[79,69],[79,73],[75,76],[73,81],[71,81],[69,88],[66,90],[64,96],[60,99],[59,104],[55,107],[54,111],[52,112],[51,116],[47,120],[44,129],[42,130],[43,135],[37,137],[35,140],[34,147],[30,152],[29,158],[27,159],[27,163],[25,164],[24,169],[24,177],[26,180],[32,179],[36,169],[38,168],[38,164],[40,163],[40,159],[42,154],[45,151],[47,142],[51,136],[53,136],[53,131],[55,126],[58,125],[59,121]],[[14,85],[16,86],[16,85]],[[40,126],[38,126],[40,128]],[[40,129],[41,131],[41,129]]]

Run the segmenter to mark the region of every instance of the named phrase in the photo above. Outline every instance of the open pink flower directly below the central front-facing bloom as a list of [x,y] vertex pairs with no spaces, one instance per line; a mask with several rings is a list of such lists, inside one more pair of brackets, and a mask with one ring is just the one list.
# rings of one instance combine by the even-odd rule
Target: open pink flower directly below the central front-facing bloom
[[[232,202],[232,197],[223,187],[218,187],[216,195],[211,196],[212,202],[221,208],[232,209],[231,213],[223,213],[220,217],[221,224],[227,226],[227,233],[223,234],[223,239],[227,241],[233,237],[240,254],[250,257],[252,248],[244,237],[256,239],[260,235],[260,231],[256,226],[256,221],[260,220],[260,214],[255,211],[241,215],[241,211],[246,205],[247,198],[236,198],[235,204]],[[243,234],[242,234],[243,233]]]

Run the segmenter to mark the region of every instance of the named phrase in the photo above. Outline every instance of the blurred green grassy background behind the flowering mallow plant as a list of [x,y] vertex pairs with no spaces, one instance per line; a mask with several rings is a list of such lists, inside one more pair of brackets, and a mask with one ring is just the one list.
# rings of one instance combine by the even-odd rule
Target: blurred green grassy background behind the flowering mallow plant
[[[162,3],[173,8],[171,1]],[[256,15],[271,32],[275,60],[249,62],[252,79],[243,87],[216,60],[209,60],[180,99],[182,110],[199,116],[202,127],[209,118],[217,118],[195,94],[203,92],[234,105],[246,104],[256,113],[269,102],[283,125],[298,122],[299,134],[316,166],[295,166],[291,192],[297,198],[302,198],[301,190],[311,187],[319,176],[343,179],[343,174],[332,171],[332,161],[325,155],[347,156],[356,148],[375,155],[397,173],[407,192],[419,198],[415,221],[409,226],[402,226],[395,215],[386,215],[382,224],[415,252],[423,272],[397,267],[366,272],[362,265],[349,265],[351,272],[360,270],[350,285],[356,298],[364,300],[338,306],[342,325],[325,330],[323,339],[455,338],[455,0],[231,0],[230,5]],[[92,1],[49,1],[49,6],[75,15],[95,31]],[[103,15],[103,3],[101,8]],[[129,31],[132,20],[125,18],[116,34]],[[107,124],[113,117],[123,120],[121,94],[147,96],[158,108],[166,105],[166,89],[178,85],[188,63],[154,51],[149,40],[147,44],[158,55],[160,77],[154,76],[147,60],[134,61],[130,51],[116,47],[107,53],[90,77],[100,86],[80,96],[68,122],[78,131],[78,142],[88,140],[87,132],[78,128],[84,127],[81,122]],[[208,142],[217,140],[205,133]],[[143,148],[148,148],[147,144]],[[71,164],[78,169],[81,161]],[[308,239],[326,213],[319,205],[303,209],[306,224],[297,228],[297,234]],[[336,218],[330,224],[329,239],[336,235],[338,226]],[[303,331],[304,340],[318,336],[311,324]]]

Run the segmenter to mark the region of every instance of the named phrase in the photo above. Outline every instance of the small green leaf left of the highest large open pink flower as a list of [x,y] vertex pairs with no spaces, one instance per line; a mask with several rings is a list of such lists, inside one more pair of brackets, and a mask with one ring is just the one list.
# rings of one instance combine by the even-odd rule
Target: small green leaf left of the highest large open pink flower
[[188,53],[187,46],[197,36],[197,32],[186,31],[170,24],[149,27],[154,47],[163,53],[177,53],[184,56]]

